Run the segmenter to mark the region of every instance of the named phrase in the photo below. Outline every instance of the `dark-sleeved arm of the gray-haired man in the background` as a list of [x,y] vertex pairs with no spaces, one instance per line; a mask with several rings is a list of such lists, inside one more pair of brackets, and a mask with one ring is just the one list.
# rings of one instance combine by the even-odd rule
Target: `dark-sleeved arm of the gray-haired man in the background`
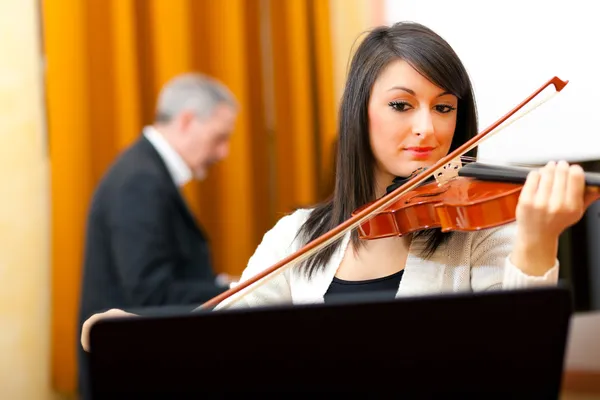
[[201,303],[226,289],[214,278],[176,279],[181,266],[175,238],[170,237],[167,190],[152,176],[138,176],[113,199],[109,224],[114,264],[128,302],[138,307]]

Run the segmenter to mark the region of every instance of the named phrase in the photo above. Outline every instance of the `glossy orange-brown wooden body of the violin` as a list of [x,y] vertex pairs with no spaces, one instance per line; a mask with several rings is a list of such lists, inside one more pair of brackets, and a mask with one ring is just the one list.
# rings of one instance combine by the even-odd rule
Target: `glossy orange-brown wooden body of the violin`
[[457,177],[443,185],[432,182],[411,190],[360,224],[358,235],[369,240],[403,236],[423,229],[478,231],[504,225],[516,219],[522,188],[522,184],[471,177]]

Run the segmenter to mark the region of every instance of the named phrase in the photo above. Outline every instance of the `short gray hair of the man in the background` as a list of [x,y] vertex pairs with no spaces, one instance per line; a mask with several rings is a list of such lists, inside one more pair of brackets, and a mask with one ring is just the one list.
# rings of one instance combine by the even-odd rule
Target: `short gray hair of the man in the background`
[[169,122],[184,110],[206,118],[222,103],[237,108],[235,97],[223,83],[203,74],[179,75],[161,89],[155,121]]

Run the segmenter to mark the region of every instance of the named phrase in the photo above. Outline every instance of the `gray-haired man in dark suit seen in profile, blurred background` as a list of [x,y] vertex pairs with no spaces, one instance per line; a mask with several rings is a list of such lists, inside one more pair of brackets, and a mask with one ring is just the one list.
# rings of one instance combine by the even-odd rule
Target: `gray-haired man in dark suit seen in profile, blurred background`
[[[110,308],[194,305],[227,289],[207,238],[181,195],[225,158],[237,103],[218,81],[186,74],[168,82],[155,123],[115,161],[89,210],[79,326]],[[225,279],[223,279],[225,278]],[[87,398],[81,346],[80,391]]]

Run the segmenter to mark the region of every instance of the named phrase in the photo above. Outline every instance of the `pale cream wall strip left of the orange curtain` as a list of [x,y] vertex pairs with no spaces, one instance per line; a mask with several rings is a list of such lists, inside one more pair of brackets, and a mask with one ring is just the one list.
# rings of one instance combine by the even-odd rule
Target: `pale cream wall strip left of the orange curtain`
[[0,398],[49,398],[48,163],[38,2],[0,2]]

